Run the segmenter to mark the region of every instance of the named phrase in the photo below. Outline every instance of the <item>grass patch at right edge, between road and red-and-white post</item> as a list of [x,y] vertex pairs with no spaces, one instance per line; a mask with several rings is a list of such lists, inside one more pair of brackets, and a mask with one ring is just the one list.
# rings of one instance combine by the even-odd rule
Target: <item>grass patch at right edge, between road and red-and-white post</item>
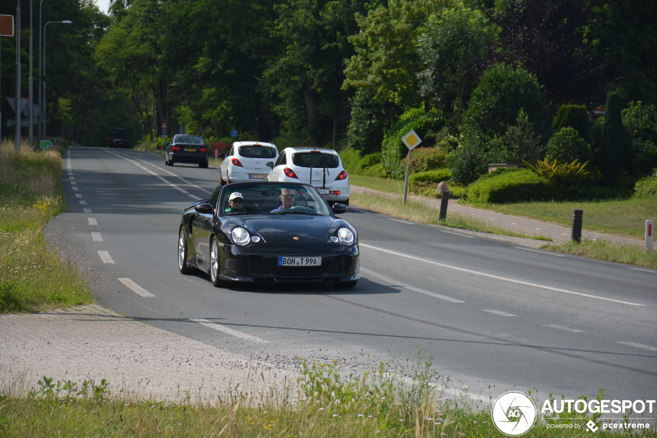
[[627,265],[644,266],[657,269],[657,250],[646,250],[637,245],[622,245],[606,240],[582,240],[581,243],[568,240],[562,244],[549,244],[541,248],[549,251],[583,255],[593,259],[616,261]]

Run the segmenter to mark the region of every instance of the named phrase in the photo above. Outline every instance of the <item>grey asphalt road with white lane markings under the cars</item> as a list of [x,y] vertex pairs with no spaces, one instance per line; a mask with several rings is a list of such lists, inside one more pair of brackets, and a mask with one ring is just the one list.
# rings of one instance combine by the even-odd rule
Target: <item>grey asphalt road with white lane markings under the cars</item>
[[420,346],[453,387],[493,398],[534,387],[539,398],[595,397],[599,387],[605,399],[657,395],[656,270],[352,208],[342,217],[359,232],[355,288],[219,289],[204,273],[181,275],[176,263],[182,209],[208,197],[217,169],[76,147],[64,156],[63,178],[62,232],[90,278],[102,278],[92,282],[99,303],[158,328],[256,357],[350,366],[417,357]]

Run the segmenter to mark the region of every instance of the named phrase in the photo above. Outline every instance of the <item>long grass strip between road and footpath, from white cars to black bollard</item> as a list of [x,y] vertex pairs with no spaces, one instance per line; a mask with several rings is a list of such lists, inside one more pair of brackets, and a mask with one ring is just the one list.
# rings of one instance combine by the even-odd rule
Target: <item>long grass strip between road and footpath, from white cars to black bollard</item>
[[503,236],[524,237],[548,241],[552,240],[551,238],[545,238],[543,236],[528,236],[527,234],[520,234],[518,232],[491,227],[484,221],[470,219],[469,217],[464,217],[455,213],[450,213],[445,220],[441,221],[440,211],[438,211],[438,209],[429,207],[426,204],[422,204],[422,202],[414,200],[408,200],[406,205],[403,205],[401,198],[392,198],[374,193],[351,192],[349,202],[350,205],[355,207],[361,207],[377,211],[378,213],[384,213],[386,215],[400,217],[401,219],[430,225],[440,224],[464,230],[502,234]]

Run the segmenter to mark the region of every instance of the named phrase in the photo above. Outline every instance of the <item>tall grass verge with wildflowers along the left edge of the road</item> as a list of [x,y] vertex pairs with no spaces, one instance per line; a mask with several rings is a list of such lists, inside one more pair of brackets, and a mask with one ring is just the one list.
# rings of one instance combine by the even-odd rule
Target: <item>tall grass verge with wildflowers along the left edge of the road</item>
[[[60,261],[41,227],[66,209],[62,159],[55,150],[2,144],[0,179],[0,312],[93,302],[78,271]],[[57,250],[57,248],[55,248]]]

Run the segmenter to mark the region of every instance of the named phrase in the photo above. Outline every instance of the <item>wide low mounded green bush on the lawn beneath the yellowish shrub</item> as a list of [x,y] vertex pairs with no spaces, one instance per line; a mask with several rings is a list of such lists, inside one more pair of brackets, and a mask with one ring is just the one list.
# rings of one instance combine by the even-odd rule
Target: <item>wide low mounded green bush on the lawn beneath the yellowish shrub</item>
[[497,169],[468,186],[468,199],[482,203],[541,201],[556,196],[552,183],[530,169]]

